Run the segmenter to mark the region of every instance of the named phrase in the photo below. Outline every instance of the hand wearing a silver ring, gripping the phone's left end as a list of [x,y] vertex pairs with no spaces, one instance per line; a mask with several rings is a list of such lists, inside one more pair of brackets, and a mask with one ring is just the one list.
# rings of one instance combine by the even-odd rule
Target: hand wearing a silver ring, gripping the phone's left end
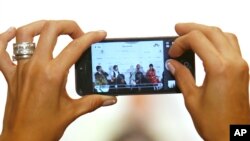
[[[105,32],[84,34],[73,21],[38,21],[20,27],[17,42],[33,42],[36,35],[40,38],[33,56],[18,65],[4,51],[13,32],[1,35],[0,68],[8,82],[8,98],[0,140],[59,140],[79,116],[116,103],[115,97],[100,95],[74,100],[65,88],[69,68],[90,44],[103,40]],[[74,40],[53,58],[57,37],[63,34]]]

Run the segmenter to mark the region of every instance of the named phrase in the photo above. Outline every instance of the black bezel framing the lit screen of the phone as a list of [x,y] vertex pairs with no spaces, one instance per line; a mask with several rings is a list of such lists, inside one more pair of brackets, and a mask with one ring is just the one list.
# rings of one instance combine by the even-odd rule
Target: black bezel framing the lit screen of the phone
[[[134,37],[134,38],[108,38],[101,42],[135,42],[135,41],[154,41],[154,40],[163,40],[173,42],[177,37],[168,36],[168,37]],[[75,64],[75,84],[76,92],[78,95],[84,96],[88,94],[102,94],[102,95],[139,95],[139,94],[173,94],[180,93],[178,86],[174,89],[162,90],[162,91],[140,91],[136,93],[130,92],[109,92],[109,93],[97,93],[93,91],[94,84],[92,83],[92,63],[91,63],[91,48],[89,47],[80,57],[80,59]],[[195,55],[192,51],[187,51],[181,57],[175,58],[176,60],[184,62],[186,59],[191,63],[189,68],[192,75],[195,78]],[[84,78],[84,79],[82,79]]]

